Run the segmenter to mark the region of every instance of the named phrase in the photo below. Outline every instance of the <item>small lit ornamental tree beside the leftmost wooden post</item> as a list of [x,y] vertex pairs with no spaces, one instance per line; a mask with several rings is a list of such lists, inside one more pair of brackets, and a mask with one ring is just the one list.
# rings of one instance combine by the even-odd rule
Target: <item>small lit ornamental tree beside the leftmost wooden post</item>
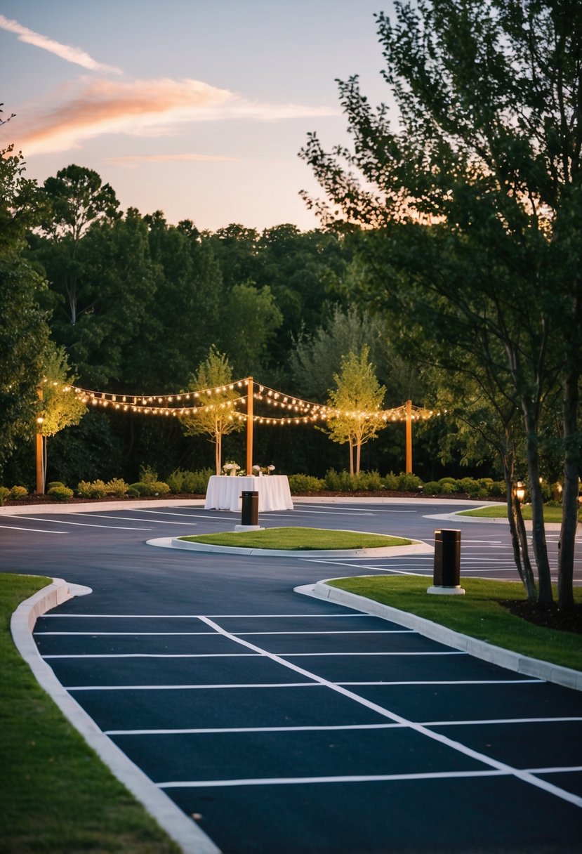
[[[73,390],[73,377],[64,349],[49,345],[44,381],[39,389],[38,433],[43,436],[43,492],[46,482],[47,439],[72,424],[79,424],[87,407]],[[42,420],[41,420],[42,419]]]

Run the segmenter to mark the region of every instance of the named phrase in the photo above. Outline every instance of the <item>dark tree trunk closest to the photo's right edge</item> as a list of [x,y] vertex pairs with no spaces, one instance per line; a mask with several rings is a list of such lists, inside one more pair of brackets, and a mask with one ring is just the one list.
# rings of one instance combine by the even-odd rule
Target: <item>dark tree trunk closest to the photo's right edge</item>
[[582,452],[578,433],[579,372],[572,371],[564,382],[564,488],[562,528],[558,551],[558,607],[573,608],[573,562],[578,527],[578,477]]

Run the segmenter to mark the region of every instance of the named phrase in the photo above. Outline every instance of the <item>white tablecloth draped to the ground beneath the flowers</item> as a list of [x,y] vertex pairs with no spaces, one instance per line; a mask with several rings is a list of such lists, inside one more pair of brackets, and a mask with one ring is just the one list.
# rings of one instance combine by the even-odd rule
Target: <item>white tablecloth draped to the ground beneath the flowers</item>
[[241,493],[248,489],[259,493],[259,513],[268,510],[293,510],[291,490],[286,475],[265,477],[230,477],[212,475],[208,481],[205,510],[241,511]]

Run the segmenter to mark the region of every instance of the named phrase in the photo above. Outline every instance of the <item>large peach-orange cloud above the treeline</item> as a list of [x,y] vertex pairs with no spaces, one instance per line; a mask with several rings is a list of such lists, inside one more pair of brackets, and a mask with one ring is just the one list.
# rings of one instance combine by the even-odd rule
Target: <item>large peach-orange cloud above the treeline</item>
[[80,85],[75,97],[56,103],[49,114],[24,120],[18,144],[26,155],[79,148],[83,140],[103,134],[160,136],[184,122],[339,114],[337,108],[251,102],[200,80],[82,79]]

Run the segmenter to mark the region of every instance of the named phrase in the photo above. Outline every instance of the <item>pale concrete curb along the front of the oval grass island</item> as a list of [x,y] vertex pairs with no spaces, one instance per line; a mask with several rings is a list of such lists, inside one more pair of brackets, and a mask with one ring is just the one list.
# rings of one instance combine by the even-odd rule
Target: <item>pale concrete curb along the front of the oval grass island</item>
[[161,548],[180,548],[188,552],[212,552],[214,554],[246,554],[253,558],[398,558],[402,554],[428,554],[434,548],[427,543],[416,541],[411,546],[382,546],[379,548],[329,548],[286,551],[282,548],[243,548],[240,546],[212,546],[206,542],[189,542],[177,537],[157,537],[147,540],[148,546]]

